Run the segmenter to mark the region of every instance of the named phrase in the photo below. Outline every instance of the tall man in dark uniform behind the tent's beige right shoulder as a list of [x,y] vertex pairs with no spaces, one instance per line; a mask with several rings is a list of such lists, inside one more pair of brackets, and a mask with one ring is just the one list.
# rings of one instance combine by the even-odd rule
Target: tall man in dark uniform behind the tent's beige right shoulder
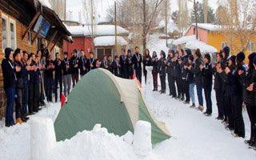
[[132,62],[134,64],[136,77],[138,81],[142,83],[142,54],[139,54],[138,51],[138,46],[135,46],[135,54],[133,55]]

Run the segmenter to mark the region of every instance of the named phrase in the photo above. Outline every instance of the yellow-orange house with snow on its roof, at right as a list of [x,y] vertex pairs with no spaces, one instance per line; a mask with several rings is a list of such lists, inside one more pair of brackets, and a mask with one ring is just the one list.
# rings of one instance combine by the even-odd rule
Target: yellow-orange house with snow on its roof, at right
[[[186,36],[196,34],[195,24],[192,24],[186,32]],[[210,46],[214,46],[218,50],[222,50],[224,46],[230,46],[230,54],[238,54],[244,51],[247,57],[256,50],[256,34],[250,34],[249,31],[239,33],[238,31],[226,32],[221,26],[208,23],[198,23],[198,39]]]

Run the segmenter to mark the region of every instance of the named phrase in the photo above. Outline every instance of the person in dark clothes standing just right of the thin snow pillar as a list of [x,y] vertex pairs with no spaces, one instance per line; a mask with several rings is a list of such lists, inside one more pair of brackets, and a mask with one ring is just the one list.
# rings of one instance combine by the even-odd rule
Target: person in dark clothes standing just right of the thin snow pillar
[[153,75],[153,85],[154,85],[154,90],[153,91],[158,91],[158,54],[154,51],[152,55],[152,75]]

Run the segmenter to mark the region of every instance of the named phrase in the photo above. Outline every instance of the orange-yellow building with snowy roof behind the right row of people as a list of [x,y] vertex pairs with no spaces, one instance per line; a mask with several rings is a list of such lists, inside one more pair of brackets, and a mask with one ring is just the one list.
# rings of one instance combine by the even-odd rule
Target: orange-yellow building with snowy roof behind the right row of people
[[[233,30],[230,30],[231,34]],[[234,30],[235,35],[236,30]],[[190,28],[186,31],[185,36],[195,35],[196,27],[195,24],[192,24]],[[236,38],[237,41],[232,42],[230,44],[230,39],[226,36],[226,31],[222,30],[221,26],[212,25],[208,23],[198,23],[198,39],[202,42],[210,46],[214,46],[218,50],[222,50],[224,46],[230,46],[231,54],[237,54],[242,50],[242,44],[240,42],[240,38]],[[247,55],[254,52],[256,50],[256,46],[254,45],[256,42],[256,38],[250,39],[248,42],[248,47],[245,50],[246,58]],[[236,47],[234,47],[236,46]]]

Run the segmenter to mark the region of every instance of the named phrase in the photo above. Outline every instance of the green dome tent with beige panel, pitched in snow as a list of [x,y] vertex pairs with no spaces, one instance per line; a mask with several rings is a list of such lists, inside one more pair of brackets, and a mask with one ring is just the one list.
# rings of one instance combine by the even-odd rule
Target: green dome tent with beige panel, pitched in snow
[[134,132],[138,120],[151,123],[153,144],[170,138],[165,124],[155,120],[147,108],[136,80],[96,69],[74,87],[54,122],[54,130],[57,141],[62,141],[99,123],[108,132],[122,136],[128,130]]

